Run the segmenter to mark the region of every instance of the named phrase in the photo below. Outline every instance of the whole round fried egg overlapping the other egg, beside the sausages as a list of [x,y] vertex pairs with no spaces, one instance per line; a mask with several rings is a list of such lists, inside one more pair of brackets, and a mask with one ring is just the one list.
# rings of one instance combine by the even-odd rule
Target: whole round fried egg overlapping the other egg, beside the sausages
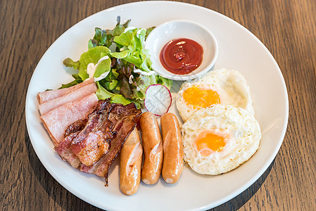
[[244,108],[215,104],[182,125],[184,161],[199,174],[234,170],[258,150],[260,126]]

